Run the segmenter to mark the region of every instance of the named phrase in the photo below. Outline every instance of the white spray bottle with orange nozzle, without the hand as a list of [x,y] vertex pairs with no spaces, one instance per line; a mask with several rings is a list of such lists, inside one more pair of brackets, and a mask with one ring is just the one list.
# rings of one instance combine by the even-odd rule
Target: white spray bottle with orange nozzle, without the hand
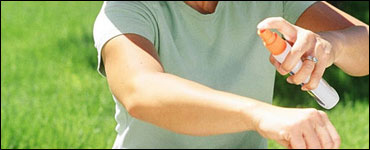
[[[280,63],[282,63],[285,57],[291,50],[291,46],[275,32],[271,32],[267,29],[258,30],[257,34],[263,40],[265,47],[272,53],[272,56]],[[302,67],[302,61],[298,61],[298,64],[290,72],[294,75]],[[307,83],[310,80],[308,77],[302,84]],[[315,98],[317,103],[325,109],[333,108],[339,101],[339,95],[324,79],[320,79],[320,83],[316,89],[307,91],[312,97]]]

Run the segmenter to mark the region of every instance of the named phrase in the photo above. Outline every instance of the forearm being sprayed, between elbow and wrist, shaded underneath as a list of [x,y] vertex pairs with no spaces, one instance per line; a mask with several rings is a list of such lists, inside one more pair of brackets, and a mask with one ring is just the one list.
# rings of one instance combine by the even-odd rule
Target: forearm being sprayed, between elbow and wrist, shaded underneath
[[141,74],[133,85],[135,92],[126,99],[131,115],[188,135],[255,130],[255,109],[273,107],[166,73]]

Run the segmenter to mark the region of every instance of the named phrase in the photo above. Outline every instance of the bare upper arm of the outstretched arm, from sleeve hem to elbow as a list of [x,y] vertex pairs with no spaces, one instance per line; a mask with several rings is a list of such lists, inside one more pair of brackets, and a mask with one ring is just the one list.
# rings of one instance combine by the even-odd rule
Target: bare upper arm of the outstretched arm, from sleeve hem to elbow
[[125,34],[109,40],[102,49],[109,87],[120,101],[132,90],[140,74],[163,72],[153,44],[137,34]]

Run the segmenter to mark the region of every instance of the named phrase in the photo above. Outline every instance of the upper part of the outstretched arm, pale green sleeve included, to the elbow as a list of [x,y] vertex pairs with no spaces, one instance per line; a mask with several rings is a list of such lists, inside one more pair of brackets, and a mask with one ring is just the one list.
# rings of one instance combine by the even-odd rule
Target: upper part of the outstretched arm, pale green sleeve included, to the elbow
[[107,1],[94,23],[98,71],[107,77],[112,94],[126,108],[143,75],[150,78],[152,73],[163,72],[154,47],[158,31],[154,5]]

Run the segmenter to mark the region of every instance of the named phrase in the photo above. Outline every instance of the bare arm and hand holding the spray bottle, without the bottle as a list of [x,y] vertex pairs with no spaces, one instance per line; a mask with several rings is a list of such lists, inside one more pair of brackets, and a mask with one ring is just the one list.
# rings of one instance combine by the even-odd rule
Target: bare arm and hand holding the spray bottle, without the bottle
[[318,58],[317,64],[303,61],[302,68],[287,78],[289,83],[310,81],[302,90],[315,89],[327,67],[335,64],[352,76],[369,74],[369,26],[326,2],[316,2],[297,20],[295,25],[283,18],[267,18],[258,28],[275,28],[293,44],[282,64],[270,57],[280,74],[287,74],[305,56]]

